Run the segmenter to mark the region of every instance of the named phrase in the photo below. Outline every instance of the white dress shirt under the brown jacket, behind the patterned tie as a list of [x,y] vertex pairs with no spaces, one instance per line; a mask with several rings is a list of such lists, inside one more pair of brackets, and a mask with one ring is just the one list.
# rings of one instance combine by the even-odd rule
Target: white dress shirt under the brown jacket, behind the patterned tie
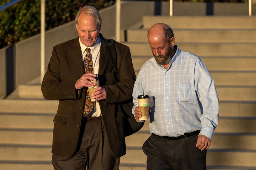
[[[87,46],[85,46],[79,39],[80,47],[81,47],[81,54],[82,54],[82,62],[84,64],[84,57],[86,55],[85,49]],[[98,74],[99,73],[99,61],[100,61],[100,47],[101,47],[101,38],[98,37],[97,42],[91,46],[88,47],[91,49],[91,55],[92,55],[92,67],[93,67],[93,73]],[[93,109],[88,116],[91,117],[99,117],[101,116],[101,109],[99,102],[92,102],[93,103]]]

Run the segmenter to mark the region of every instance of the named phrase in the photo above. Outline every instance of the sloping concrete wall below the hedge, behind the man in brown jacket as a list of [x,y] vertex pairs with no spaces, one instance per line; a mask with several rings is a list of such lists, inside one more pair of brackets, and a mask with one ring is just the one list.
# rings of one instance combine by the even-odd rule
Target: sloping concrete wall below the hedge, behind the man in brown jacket
[[[143,15],[154,15],[155,2],[122,2],[121,29],[128,28],[142,20]],[[105,38],[115,36],[116,9],[111,6],[99,11],[102,18],[101,33]],[[129,14],[129,15],[127,15]],[[75,23],[69,22],[46,31],[45,68],[49,63],[54,45],[76,38]],[[16,85],[26,84],[40,76],[40,34],[16,43]]]

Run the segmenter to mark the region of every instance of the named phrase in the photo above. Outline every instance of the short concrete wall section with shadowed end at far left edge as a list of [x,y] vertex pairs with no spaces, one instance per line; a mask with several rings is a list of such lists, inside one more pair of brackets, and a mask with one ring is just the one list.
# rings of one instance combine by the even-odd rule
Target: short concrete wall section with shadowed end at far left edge
[[9,95],[15,88],[14,46],[0,49],[0,99]]

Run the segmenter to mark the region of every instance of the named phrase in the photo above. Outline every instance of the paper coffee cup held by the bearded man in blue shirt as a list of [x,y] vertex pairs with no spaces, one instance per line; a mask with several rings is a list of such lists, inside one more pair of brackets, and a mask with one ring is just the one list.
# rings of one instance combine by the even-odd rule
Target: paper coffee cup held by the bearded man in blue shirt
[[150,97],[148,95],[139,95],[137,99],[138,99],[138,107],[140,108],[140,112],[142,113],[142,117],[139,117],[139,119],[148,120]]

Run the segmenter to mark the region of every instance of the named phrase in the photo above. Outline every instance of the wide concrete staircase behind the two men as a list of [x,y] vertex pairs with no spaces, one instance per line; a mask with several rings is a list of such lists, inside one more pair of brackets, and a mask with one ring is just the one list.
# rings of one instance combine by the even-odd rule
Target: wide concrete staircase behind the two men
[[[138,74],[152,57],[147,42],[151,25],[173,28],[181,50],[197,54],[210,71],[219,95],[220,117],[207,152],[207,169],[256,170],[256,18],[145,16],[143,28],[126,30]],[[0,169],[52,170],[53,117],[58,101],[41,94],[39,78],[20,85],[0,100]],[[145,170],[142,144],[150,136],[149,122],[126,137],[127,154],[120,170]]]

